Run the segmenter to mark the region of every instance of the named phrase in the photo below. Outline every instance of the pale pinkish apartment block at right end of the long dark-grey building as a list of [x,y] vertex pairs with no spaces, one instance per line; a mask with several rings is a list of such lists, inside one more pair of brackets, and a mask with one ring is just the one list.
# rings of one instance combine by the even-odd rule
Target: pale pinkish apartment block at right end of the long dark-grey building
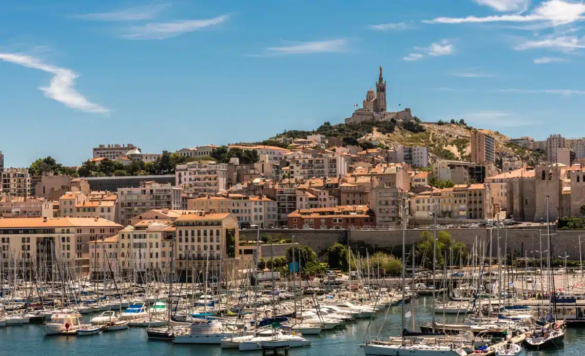
[[225,163],[179,164],[175,170],[176,185],[196,193],[225,191],[228,179],[228,165]]

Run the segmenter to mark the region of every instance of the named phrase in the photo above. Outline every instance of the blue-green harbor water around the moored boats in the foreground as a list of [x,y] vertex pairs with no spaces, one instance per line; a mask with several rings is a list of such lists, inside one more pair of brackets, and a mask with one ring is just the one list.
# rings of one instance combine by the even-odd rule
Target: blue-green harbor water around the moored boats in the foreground
[[[406,308],[408,309],[408,305]],[[317,336],[307,335],[310,347],[291,348],[291,356],[344,355],[363,356],[360,344],[366,333],[370,337],[398,336],[401,330],[401,306],[394,306],[376,314],[371,324],[369,319],[358,319],[347,323],[344,329],[322,331]],[[416,322],[431,322],[431,299],[417,299]],[[89,320],[90,316],[84,316]],[[438,322],[442,315],[436,314]],[[452,320],[448,317],[447,321]],[[412,325],[407,318],[407,324]],[[412,329],[412,326],[408,327]],[[97,355],[234,355],[237,349],[223,349],[219,345],[178,345],[162,341],[147,341],[143,328],[102,333],[94,336],[44,336],[42,325],[7,326],[0,328],[0,354],[2,356],[22,355],[63,355],[63,356],[97,356]],[[245,354],[259,354],[261,351],[246,351]],[[567,329],[565,343],[558,350],[526,351],[521,355],[585,355],[585,328]]]

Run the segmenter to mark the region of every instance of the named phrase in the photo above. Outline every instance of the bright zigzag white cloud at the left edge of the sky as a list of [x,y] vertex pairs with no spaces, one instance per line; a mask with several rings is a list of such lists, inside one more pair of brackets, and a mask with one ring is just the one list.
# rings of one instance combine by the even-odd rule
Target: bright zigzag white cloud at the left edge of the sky
[[93,113],[107,113],[108,109],[89,102],[83,95],[75,91],[74,80],[77,74],[67,68],[55,67],[45,64],[35,57],[22,54],[0,53],[0,60],[20,64],[24,67],[34,68],[53,74],[49,87],[40,87],[48,98],[59,101],[70,108]]

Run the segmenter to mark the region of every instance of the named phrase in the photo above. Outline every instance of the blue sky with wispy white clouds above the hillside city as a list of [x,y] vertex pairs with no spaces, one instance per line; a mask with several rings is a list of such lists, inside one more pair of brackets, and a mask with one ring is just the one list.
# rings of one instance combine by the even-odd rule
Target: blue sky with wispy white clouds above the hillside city
[[576,0],[2,2],[0,150],[78,165],[99,143],[314,129],[350,116],[380,65],[388,110],[581,137],[584,19]]

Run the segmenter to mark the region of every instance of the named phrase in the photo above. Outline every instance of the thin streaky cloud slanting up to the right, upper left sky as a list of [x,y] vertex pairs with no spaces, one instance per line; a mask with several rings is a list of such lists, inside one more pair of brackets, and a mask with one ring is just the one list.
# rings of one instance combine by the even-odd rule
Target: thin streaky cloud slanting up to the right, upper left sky
[[220,25],[228,20],[228,15],[220,15],[204,20],[177,20],[173,22],[150,22],[142,26],[131,26],[123,38],[129,40],[161,40],[180,34],[202,30],[207,27]]

